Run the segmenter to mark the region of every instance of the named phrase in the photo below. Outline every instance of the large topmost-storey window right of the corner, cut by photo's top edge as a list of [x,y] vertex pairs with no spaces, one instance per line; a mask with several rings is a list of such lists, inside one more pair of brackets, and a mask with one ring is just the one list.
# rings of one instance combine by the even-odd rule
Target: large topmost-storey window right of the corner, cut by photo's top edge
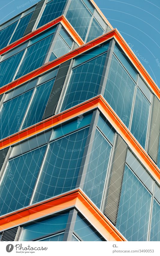
[[85,41],[92,14],[82,1],[72,0],[66,14],[66,18]]

